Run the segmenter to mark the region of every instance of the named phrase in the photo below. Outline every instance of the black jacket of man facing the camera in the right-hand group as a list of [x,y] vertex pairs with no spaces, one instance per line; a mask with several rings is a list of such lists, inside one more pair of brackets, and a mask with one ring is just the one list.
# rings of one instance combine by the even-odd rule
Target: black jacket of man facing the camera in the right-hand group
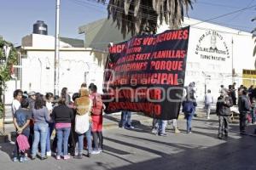
[[230,107],[233,105],[233,100],[230,96],[219,96],[217,105],[216,105],[216,113],[218,116],[230,116],[231,111]]

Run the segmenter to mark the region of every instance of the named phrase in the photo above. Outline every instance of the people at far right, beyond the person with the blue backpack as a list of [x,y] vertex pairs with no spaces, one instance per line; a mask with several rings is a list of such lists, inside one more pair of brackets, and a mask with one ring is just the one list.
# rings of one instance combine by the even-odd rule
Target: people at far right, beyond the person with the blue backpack
[[[236,98],[236,82],[234,82],[232,85],[229,85],[229,88],[224,88],[224,85],[221,85],[219,94],[216,104],[216,114],[219,124],[218,139],[228,137],[230,116],[232,114],[230,107],[234,105],[237,105],[239,111],[240,133],[246,134],[247,124],[255,124],[256,88],[253,85],[250,88],[241,85],[237,89],[238,98]],[[236,102],[237,99],[238,102]],[[207,119],[210,119],[212,103],[211,90],[208,90],[205,96]]]

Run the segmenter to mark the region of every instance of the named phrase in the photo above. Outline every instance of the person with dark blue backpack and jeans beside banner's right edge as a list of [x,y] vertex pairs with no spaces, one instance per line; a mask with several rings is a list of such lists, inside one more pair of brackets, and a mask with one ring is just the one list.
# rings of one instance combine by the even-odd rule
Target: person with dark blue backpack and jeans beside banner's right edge
[[192,132],[192,119],[195,114],[195,107],[197,106],[193,94],[188,94],[183,100],[183,113],[187,119],[187,133]]

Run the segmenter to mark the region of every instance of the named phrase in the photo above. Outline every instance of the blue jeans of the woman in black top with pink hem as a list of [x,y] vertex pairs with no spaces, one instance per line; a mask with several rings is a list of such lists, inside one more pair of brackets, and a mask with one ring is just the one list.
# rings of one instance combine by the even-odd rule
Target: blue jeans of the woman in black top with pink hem
[[61,156],[63,146],[63,156],[67,156],[67,143],[70,133],[70,127],[57,128],[57,156]]

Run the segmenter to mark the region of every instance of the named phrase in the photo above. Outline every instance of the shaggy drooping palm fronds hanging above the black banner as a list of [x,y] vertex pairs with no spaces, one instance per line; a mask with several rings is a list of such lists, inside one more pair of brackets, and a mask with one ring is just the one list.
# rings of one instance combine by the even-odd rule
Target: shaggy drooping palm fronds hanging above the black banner
[[[188,12],[194,0],[109,0],[108,19],[117,23],[123,36],[156,33],[158,20],[165,21],[170,29],[181,25],[184,12]],[[106,3],[106,0],[98,0]]]

